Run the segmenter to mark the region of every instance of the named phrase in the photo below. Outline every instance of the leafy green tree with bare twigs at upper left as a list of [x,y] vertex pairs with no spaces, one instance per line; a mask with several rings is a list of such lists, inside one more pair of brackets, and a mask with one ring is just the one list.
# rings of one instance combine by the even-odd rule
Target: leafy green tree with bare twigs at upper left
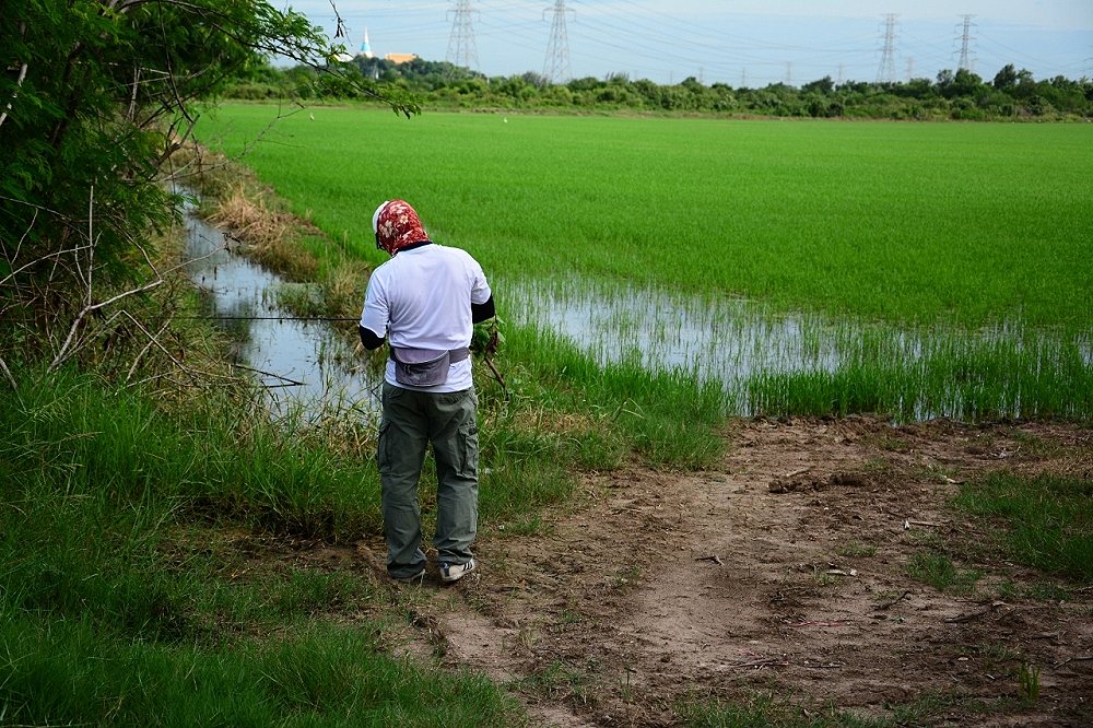
[[101,284],[134,294],[162,282],[149,233],[177,209],[158,176],[193,127],[192,102],[265,72],[271,55],[320,66],[336,49],[262,0],[22,0],[4,11],[0,316],[33,313],[35,325],[4,327],[0,363],[33,339],[56,365],[113,305]]

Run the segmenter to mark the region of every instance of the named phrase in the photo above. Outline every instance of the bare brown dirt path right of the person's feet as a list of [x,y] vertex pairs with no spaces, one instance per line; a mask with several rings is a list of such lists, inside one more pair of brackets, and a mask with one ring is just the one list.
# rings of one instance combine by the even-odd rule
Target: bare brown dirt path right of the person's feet
[[[1089,430],[757,420],[729,438],[717,470],[589,478],[546,536],[483,539],[479,574],[422,590],[446,659],[513,684],[536,725],[672,726],[683,698],[761,695],[915,725],[1093,723],[1093,594],[1002,598],[1046,579],[987,560],[944,507],[996,469],[1093,478]],[[938,542],[986,573],[975,592],[906,575]]]

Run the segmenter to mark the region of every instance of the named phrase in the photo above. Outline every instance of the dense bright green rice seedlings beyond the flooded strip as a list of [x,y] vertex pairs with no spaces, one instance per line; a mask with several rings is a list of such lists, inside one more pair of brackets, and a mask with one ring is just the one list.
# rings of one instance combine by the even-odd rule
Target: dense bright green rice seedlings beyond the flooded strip
[[[314,121],[281,119],[255,144],[275,115],[224,106],[198,132],[228,153],[247,146],[247,164],[297,212],[377,261],[363,212],[402,196],[435,221],[438,239],[498,271],[572,271],[925,325],[1085,318],[1093,131],[1083,125],[500,125],[329,108]],[[362,127],[391,150],[412,145],[428,174],[361,144]],[[302,154],[312,163],[297,164]],[[361,168],[371,174],[346,174]],[[672,214],[680,199],[683,226]]]

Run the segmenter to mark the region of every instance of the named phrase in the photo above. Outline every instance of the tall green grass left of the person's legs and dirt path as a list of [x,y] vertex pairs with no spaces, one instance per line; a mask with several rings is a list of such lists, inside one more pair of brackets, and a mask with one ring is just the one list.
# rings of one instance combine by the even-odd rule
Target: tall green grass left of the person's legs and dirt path
[[377,477],[210,398],[33,371],[0,398],[0,723],[520,723],[482,677],[385,654],[368,570],[232,544],[375,536]]

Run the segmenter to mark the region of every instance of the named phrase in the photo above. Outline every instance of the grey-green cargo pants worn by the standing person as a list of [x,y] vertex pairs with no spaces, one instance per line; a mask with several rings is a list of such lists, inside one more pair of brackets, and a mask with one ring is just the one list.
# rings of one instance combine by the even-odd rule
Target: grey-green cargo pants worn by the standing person
[[428,443],[436,459],[437,560],[467,563],[478,530],[474,388],[433,394],[384,383],[383,401],[377,459],[388,573],[407,578],[425,566],[418,481]]

